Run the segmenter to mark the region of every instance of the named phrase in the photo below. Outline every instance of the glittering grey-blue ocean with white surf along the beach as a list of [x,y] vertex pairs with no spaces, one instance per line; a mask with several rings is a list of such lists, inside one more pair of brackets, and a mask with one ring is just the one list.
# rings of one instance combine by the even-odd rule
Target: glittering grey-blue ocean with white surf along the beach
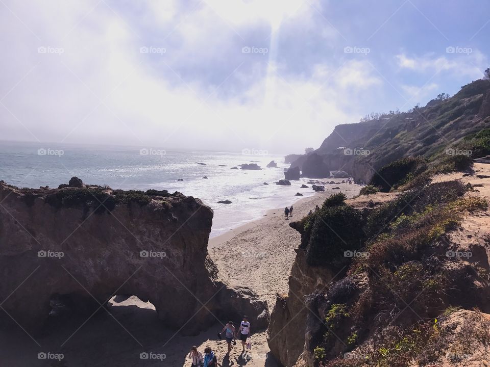
[[[266,168],[272,160],[278,168]],[[231,169],[252,162],[263,169]],[[311,188],[300,189],[307,179],[291,181],[289,187],[275,184],[284,178],[287,167],[283,155],[255,149],[230,153],[0,142],[0,179],[10,185],[57,188],[77,176],[84,183],[112,189],[179,191],[200,198],[213,209],[211,237],[262,218],[268,209],[290,206],[299,198],[314,195]],[[297,192],[304,196],[295,196]],[[219,200],[232,203],[220,204]]]

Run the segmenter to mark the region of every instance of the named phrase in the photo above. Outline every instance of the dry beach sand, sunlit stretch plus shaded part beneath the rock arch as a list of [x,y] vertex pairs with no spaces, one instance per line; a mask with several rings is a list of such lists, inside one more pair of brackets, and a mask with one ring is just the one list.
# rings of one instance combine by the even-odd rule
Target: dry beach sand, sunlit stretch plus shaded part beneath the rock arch
[[[333,187],[340,190],[332,190]],[[292,197],[284,203],[294,203],[292,220],[302,218],[316,204],[322,205],[326,197],[339,191],[348,197],[358,194],[358,185],[326,185],[326,191],[300,199]],[[295,259],[294,249],[300,243],[299,233],[289,227],[284,208],[268,211],[263,219],[230,230],[213,238],[209,252],[215,261],[219,276],[230,284],[246,285],[267,301],[269,310],[275,304],[276,293],[288,291],[288,276]],[[169,295],[171,298],[171,295]],[[223,320],[226,322],[227,320]],[[234,320],[238,323],[240,320]],[[114,303],[108,311],[102,310],[87,321],[87,318],[70,318],[57,325],[50,325],[42,335],[31,335],[12,322],[10,331],[0,332],[0,365],[16,366],[190,366],[186,355],[192,345],[203,350],[209,345],[216,352],[218,365],[249,367],[277,364],[269,356],[264,330],[253,331],[253,348],[245,358],[239,358],[241,346],[238,342],[229,359],[224,359],[226,342],[217,340],[216,333],[223,328],[216,323],[210,330],[197,336],[182,336],[175,330],[162,326],[155,308],[136,297]],[[253,325],[252,325],[253,329]],[[39,344],[39,346],[37,345]],[[39,352],[63,353],[61,362],[39,360]],[[140,353],[165,355],[158,359],[140,359]]]

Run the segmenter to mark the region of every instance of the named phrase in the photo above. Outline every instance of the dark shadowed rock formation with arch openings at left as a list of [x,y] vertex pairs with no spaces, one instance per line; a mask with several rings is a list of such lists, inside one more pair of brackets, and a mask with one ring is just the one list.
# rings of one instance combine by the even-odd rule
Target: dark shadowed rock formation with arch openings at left
[[243,313],[267,325],[265,302],[217,278],[207,252],[213,212],[198,199],[1,181],[0,202],[0,302],[23,327],[41,327],[52,299],[90,314],[113,295],[150,301],[187,333]]

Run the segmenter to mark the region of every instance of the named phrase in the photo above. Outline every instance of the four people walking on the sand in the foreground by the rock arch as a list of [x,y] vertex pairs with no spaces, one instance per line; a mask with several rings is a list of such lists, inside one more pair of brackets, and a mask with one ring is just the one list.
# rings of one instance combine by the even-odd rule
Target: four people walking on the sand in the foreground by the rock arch
[[[252,334],[251,325],[247,316],[243,316],[243,320],[240,323],[240,327],[236,330],[233,321],[229,321],[222,331],[218,333],[218,338],[221,340],[222,334],[225,333],[225,340],[228,344],[228,353],[226,353],[225,358],[230,356],[230,352],[233,345],[236,345],[236,339],[239,338],[241,341],[241,355],[245,352],[245,348],[251,348],[250,336]],[[210,346],[204,348],[203,353],[198,351],[196,346],[193,346],[187,356],[192,360],[192,367],[217,367],[216,355],[212,351]]]

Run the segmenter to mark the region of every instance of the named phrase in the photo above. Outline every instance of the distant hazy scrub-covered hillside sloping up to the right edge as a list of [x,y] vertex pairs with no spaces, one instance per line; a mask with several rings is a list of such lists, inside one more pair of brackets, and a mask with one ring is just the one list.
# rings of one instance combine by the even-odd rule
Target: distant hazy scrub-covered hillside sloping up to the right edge
[[[490,126],[490,81],[477,80],[448,99],[405,113],[391,113],[353,124],[335,126],[315,153],[330,171],[347,171],[369,181],[375,170],[403,156],[430,158],[443,147]],[[347,153],[344,149],[350,150]],[[306,155],[291,162],[303,168]]]

